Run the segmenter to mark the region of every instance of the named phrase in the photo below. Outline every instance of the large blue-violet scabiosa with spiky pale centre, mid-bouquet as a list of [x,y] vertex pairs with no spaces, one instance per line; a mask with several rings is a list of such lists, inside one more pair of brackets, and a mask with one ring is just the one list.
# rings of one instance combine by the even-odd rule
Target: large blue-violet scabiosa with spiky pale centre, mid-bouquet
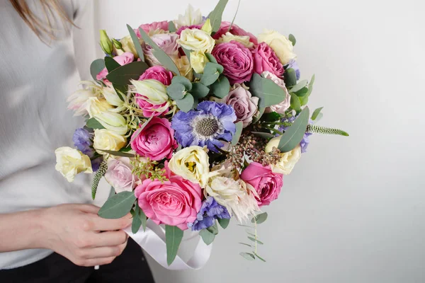
[[177,112],[171,127],[181,146],[207,146],[210,151],[218,152],[217,147],[224,145],[222,140],[232,141],[236,132],[235,120],[232,106],[205,100],[196,110]]

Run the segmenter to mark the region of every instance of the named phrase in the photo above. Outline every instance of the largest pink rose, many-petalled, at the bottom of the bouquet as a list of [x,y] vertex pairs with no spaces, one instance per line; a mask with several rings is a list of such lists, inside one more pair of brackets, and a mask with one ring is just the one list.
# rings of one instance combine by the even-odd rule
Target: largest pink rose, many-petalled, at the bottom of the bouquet
[[139,207],[156,224],[188,229],[196,220],[201,206],[201,189],[198,184],[174,175],[165,163],[167,181],[144,180],[135,190]]

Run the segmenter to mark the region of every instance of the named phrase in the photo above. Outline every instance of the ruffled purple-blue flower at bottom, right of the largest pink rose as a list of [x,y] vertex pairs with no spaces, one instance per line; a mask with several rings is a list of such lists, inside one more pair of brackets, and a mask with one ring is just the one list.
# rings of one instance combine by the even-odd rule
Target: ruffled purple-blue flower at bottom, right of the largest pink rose
[[188,227],[192,228],[193,231],[207,229],[214,225],[215,219],[230,219],[230,214],[226,207],[214,200],[214,197],[208,197],[202,202],[202,206],[196,215],[196,220],[193,223],[189,223]]

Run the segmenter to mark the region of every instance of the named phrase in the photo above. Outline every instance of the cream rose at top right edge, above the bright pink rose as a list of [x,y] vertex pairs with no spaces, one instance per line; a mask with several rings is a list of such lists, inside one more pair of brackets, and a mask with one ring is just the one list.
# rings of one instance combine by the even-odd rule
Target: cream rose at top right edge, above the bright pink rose
[[266,30],[258,37],[259,42],[266,42],[271,49],[279,57],[283,65],[288,64],[291,59],[295,59],[297,55],[293,52],[293,44],[285,37],[275,30]]

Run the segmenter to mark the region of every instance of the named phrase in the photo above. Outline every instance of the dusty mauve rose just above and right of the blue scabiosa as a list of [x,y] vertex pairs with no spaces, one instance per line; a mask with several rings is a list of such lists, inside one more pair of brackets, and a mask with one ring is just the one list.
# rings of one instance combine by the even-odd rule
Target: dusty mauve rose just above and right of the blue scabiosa
[[253,97],[249,91],[247,91],[239,83],[235,84],[233,91],[224,98],[224,102],[227,105],[232,105],[234,113],[237,117],[237,122],[242,121],[244,127],[248,126],[252,122],[252,117],[257,112],[257,105],[259,104],[259,98]]

